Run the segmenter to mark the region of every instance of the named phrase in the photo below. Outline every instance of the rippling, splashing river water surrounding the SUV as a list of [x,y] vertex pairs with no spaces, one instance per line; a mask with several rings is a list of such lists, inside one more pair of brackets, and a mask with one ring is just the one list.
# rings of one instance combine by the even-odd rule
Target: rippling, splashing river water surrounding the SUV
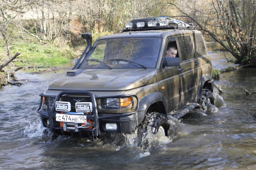
[[[221,55],[221,54],[220,54]],[[218,66],[219,59],[213,66]],[[224,63],[225,65],[225,63]],[[137,147],[136,131],[96,143],[59,137],[51,142],[38,114],[38,94],[66,70],[29,74],[21,86],[0,90],[0,169],[256,169],[256,69],[222,73],[215,82],[215,106],[195,109],[180,120],[170,117],[170,135]]]

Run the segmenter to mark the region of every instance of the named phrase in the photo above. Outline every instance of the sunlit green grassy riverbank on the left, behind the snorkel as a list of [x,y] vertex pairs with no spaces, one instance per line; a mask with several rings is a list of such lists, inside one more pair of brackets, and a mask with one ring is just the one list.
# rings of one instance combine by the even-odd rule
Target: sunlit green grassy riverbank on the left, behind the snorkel
[[[92,31],[93,43],[99,37],[109,34],[111,33]],[[55,43],[46,43],[42,45],[36,39],[29,36],[23,38],[26,40],[17,38],[12,42],[13,45],[10,45],[11,57],[15,53],[21,53],[13,61],[15,67],[54,66],[67,63],[70,62],[71,58],[80,56],[85,48],[84,44],[73,48],[68,45],[70,43],[65,42],[63,39],[56,39]],[[80,48],[80,46],[82,48]],[[5,56],[0,65],[9,59],[6,54],[7,52],[4,51],[3,48],[0,48],[0,61]]]

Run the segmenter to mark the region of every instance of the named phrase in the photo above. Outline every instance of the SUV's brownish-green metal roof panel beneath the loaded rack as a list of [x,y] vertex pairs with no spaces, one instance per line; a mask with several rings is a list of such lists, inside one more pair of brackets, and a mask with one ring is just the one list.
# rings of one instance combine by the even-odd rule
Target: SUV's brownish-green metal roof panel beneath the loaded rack
[[165,30],[154,30],[154,31],[132,31],[132,32],[121,32],[113,35],[106,35],[99,38],[102,39],[112,39],[112,38],[132,38],[132,37],[167,37],[172,35],[182,35],[187,33],[201,33],[197,30],[187,30],[187,29],[165,29]]

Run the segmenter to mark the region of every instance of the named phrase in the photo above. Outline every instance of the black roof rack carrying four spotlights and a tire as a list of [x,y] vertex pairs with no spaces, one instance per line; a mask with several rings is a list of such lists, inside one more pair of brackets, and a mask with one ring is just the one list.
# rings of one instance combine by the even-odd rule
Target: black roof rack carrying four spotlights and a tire
[[185,23],[171,18],[170,16],[158,16],[149,18],[135,18],[130,23],[125,24],[128,31],[148,31],[148,30],[163,30],[163,29],[195,29],[193,23]]

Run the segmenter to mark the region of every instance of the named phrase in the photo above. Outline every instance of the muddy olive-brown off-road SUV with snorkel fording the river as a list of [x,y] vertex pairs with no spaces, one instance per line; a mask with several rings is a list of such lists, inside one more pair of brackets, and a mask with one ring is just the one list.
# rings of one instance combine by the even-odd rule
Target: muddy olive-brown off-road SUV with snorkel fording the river
[[[140,18],[93,46],[90,33],[82,37],[87,47],[74,68],[40,94],[37,113],[54,134],[96,140],[131,133],[154,115],[153,133],[168,135],[167,115],[180,118],[214,102],[210,57],[193,24]],[[166,56],[170,46],[176,57]]]

